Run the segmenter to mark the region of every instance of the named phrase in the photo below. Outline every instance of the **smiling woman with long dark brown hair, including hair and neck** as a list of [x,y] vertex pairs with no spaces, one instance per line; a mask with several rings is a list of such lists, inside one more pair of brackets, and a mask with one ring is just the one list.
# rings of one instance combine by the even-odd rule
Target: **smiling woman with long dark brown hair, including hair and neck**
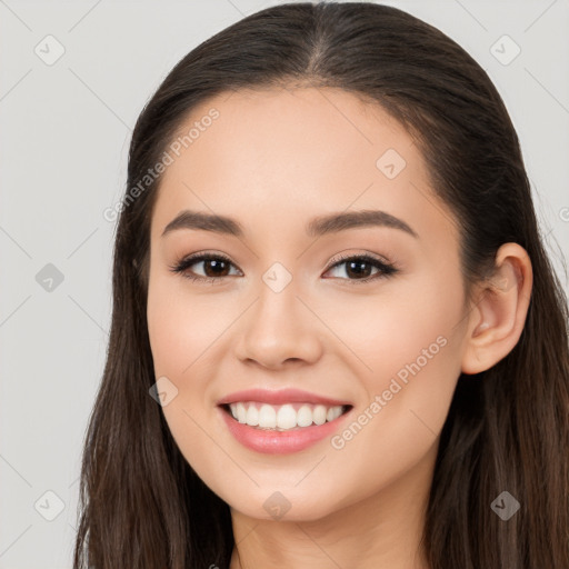
[[133,132],[74,567],[569,567],[567,318],[465,50],[244,18]]

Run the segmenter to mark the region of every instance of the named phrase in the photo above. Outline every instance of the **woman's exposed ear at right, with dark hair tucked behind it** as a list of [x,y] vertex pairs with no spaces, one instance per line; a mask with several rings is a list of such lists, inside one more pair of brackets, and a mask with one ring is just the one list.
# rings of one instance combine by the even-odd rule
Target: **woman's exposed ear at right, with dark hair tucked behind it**
[[523,330],[533,273],[529,256],[518,243],[496,253],[496,272],[483,281],[471,310],[462,355],[463,373],[479,373],[513,349]]

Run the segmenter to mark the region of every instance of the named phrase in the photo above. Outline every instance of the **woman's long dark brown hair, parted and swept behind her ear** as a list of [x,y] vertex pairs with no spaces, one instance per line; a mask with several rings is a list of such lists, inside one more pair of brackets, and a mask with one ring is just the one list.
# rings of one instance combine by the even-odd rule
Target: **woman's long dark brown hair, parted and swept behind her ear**
[[[460,228],[467,291],[489,274],[502,243],[528,251],[533,289],[520,340],[491,369],[458,380],[423,545],[431,569],[569,568],[567,298],[542,244],[517,133],[461,47],[369,2],[253,13],[188,53],[141,112],[117,227],[107,362],[86,433],[73,568],[229,566],[229,507],[181,456],[149,396],[149,228],[160,177],[139,182],[200,102],[290,84],[373,101],[413,136]],[[520,503],[508,521],[491,508],[502,491]]]

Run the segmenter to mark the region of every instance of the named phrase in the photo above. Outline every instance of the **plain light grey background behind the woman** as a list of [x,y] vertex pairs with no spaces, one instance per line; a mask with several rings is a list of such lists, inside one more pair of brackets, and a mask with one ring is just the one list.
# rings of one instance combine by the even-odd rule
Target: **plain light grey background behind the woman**
[[[182,56],[274,3],[0,0],[1,569],[71,567],[111,313],[114,223],[103,211],[123,192],[137,116]],[[385,3],[441,29],[495,81],[568,290],[569,2]]]

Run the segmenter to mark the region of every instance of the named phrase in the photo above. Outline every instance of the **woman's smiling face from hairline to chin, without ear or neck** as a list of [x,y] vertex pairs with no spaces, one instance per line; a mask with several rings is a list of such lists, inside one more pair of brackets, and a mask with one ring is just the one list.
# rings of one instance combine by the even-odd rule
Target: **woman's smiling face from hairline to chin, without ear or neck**
[[180,451],[254,518],[387,492],[432,463],[467,320],[458,233],[417,146],[332,89],[224,93],[180,132],[196,121],[151,220],[148,330]]

